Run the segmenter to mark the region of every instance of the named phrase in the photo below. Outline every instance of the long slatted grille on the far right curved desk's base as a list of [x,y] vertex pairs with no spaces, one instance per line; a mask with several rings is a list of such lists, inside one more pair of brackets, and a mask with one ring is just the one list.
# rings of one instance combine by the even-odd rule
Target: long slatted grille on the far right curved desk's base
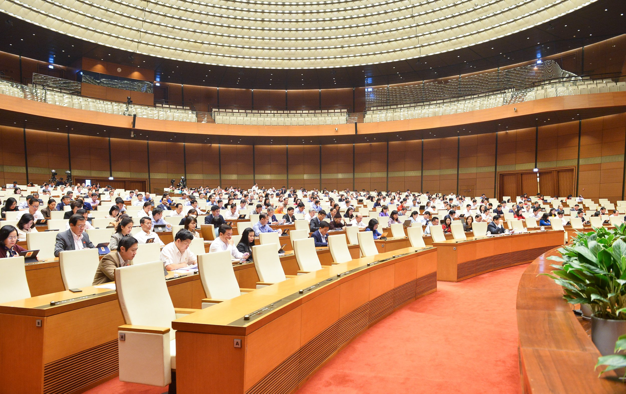
[[496,269],[513,266],[515,264],[530,262],[553,248],[554,246],[536,247],[535,249],[526,249],[525,251],[498,254],[496,256],[466,261],[458,265],[456,269],[456,280],[462,281],[463,279],[483,272],[495,271]]

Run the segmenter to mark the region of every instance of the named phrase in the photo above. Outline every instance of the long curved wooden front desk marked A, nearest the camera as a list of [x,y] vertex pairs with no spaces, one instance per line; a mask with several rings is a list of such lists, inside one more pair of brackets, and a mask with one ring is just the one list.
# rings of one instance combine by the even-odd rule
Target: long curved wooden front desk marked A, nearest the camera
[[362,257],[173,321],[178,393],[290,393],[359,333],[436,291],[436,254],[406,248]]

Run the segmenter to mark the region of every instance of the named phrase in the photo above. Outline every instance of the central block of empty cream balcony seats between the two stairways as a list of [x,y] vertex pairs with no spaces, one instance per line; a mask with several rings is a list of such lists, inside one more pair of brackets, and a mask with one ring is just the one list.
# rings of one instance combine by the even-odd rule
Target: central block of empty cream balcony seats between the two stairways
[[215,123],[225,125],[344,125],[346,110],[230,110],[213,109]]

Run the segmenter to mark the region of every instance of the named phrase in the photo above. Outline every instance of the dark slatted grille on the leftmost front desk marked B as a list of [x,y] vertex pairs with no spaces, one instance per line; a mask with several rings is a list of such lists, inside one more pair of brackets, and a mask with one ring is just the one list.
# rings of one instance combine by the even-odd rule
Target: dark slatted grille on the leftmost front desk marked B
[[117,340],[46,364],[44,394],[67,394],[118,373]]

